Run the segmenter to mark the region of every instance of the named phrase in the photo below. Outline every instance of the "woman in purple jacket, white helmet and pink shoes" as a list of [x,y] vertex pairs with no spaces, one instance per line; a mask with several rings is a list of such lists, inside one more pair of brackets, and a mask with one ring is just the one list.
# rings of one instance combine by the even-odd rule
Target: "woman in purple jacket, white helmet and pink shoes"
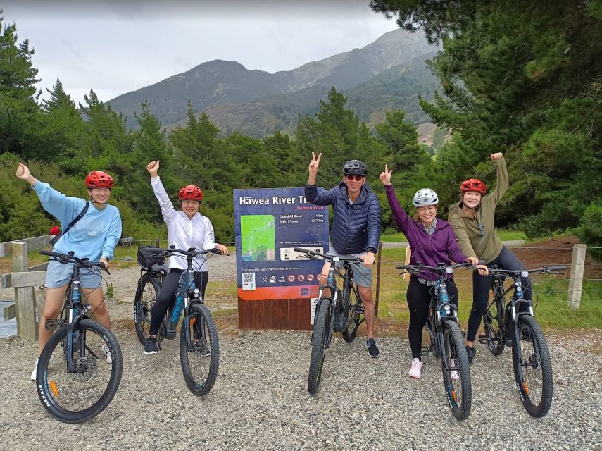
[[[479,263],[474,257],[466,257],[458,247],[456,235],[447,221],[437,218],[437,194],[429,188],[422,188],[414,195],[414,206],[417,214],[410,218],[397,200],[393,186],[391,185],[391,173],[389,166],[384,166],[384,172],[380,173],[380,181],[387,193],[387,200],[391,206],[391,212],[397,226],[406,235],[412,251],[410,264],[418,261],[427,266],[437,266],[442,261],[455,261],[460,263],[466,261],[473,265]],[[420,378],[422,373],[422,361],[420,350],[422,348],[422,328],[427,322],[429,315],[430,294],[429,290],[437,283],[437,276],[430,272],[420,273],[419,276],[411,276],[408,292],[408,309],[410,310],[410,327],[408,328],[408,339],[412,350],[412,364],[408,375]],[[450,302],[458,305],[458,288],[450,278],[446,280],[447,292]]]

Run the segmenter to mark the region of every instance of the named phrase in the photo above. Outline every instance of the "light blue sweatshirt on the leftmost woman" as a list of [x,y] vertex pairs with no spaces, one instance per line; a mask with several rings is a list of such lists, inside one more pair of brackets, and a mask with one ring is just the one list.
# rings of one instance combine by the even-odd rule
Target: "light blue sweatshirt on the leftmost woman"
[[[61,221],[63,230],[80,214],[86,201],[77,197],[67,197],[50,187],[48,183],[39,182],[33,187],[44,210]],[[89,258],[99,261],[101,257],[113,258],[113,249],[121,237],[121,216],[117,207],[107,205],[104,209],[96,209],[94,204],[75,226],[56,242],[54,252],[75,253],[75,257]]]

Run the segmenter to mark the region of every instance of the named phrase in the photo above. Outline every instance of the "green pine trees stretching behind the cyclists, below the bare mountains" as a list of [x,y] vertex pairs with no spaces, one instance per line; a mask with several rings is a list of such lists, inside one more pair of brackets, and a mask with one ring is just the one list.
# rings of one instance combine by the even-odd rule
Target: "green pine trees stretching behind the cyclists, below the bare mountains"
[[201,212],[213,221],[218,240],[232,242],[232,189],[302,186],[311,152],[324,154],[318,183],[325,187],[337,183],[347,159],[367,163],[368,183],[382,200],[384,230],[392,228],[377,180],[384,163],[394,169],[403,206],[410,209],[413,192],[429,186],[439,193],[445,215],[461,180],[475,176],[494,185],[488,156],[504,152],[510,190],[498,208],[498,226],[518,225],[531,237],[575,228],[590,245],[602,246],[601,3],[459,1],[452,14],[449,2],[422,8],[415,1],[373,1],[376,10],[399,11],[404,27],[422,24],[430,39],[444,45],[429,63],[443,92],[423,100],[422,108],[439,128],[453,130],[453,139],[439,143],[434,156],[417,144],[405,111],[389,111],[370,130],[365,113],[351,109],[356,93],[347,92],[348,101],[336,86],[318,113],[299,116],[291,135],[220,134],[193,103],[186,123],[167,132],[146,101],[132,130],[93,91],[76,106],[59,80],[42,101],[30,43],[18,39],[16,25],[3,23],[0,240],[46,233],[54,223],[15,178],[18,161],[40,180],[78,196],[84,195],[87,171],[108,171],[116,179],[112,202],[122,213],[124,235],[143,239],[165,233],[144,168],[161,159],[168,192],[201,186]]

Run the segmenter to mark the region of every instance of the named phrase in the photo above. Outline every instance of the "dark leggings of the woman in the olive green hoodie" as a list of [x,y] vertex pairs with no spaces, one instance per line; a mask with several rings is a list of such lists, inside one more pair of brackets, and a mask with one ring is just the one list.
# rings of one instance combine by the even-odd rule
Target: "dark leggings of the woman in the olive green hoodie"
[[[497,265],[500,269],[524,269],[522,263],[516,258],[515,254],[504,246],[500,254],[494,261],[487,264],[487,266]],[[525,301],[532,299],[532,287],[531,279],[528,277],[521,278],[522,280],[522,298]],[[472,310],[470,316],[468,316],[468,332],[466,334],[467,341],[475,341],[477,336],[477,330],[481,326],[481,319],[489,302],[489,290],[491,290],[491,283],[494,281],[494,276],[480,276],[477,271],[472,273]],[[519,311],[525,311],[529,307],[527,304],[521,303]]]

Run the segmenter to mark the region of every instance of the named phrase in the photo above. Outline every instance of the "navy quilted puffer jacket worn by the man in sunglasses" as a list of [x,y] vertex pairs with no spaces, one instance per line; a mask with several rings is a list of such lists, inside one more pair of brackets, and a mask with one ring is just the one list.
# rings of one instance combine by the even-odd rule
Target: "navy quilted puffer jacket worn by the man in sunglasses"
[[380,202],[367,184],[360,196],[349,203],[345,181],[327,191],[318,192],[317,185],[305,185],[307,202],[314,205],[332,205],[330,243],[339,254],[376,254],[380,240]]

